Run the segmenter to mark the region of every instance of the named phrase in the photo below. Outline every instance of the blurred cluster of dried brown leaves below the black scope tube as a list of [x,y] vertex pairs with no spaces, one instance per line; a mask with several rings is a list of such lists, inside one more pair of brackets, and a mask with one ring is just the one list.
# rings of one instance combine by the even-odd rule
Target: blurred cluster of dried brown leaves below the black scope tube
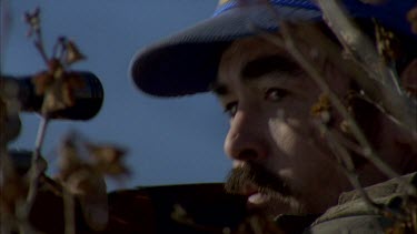
[[80,201],[83,216],[95,230],[102,230],[108,221],[105,175],[128,173],[123,155],[125,150],[81,142],[77,134],[67,138],[60,149],[58,179]]

